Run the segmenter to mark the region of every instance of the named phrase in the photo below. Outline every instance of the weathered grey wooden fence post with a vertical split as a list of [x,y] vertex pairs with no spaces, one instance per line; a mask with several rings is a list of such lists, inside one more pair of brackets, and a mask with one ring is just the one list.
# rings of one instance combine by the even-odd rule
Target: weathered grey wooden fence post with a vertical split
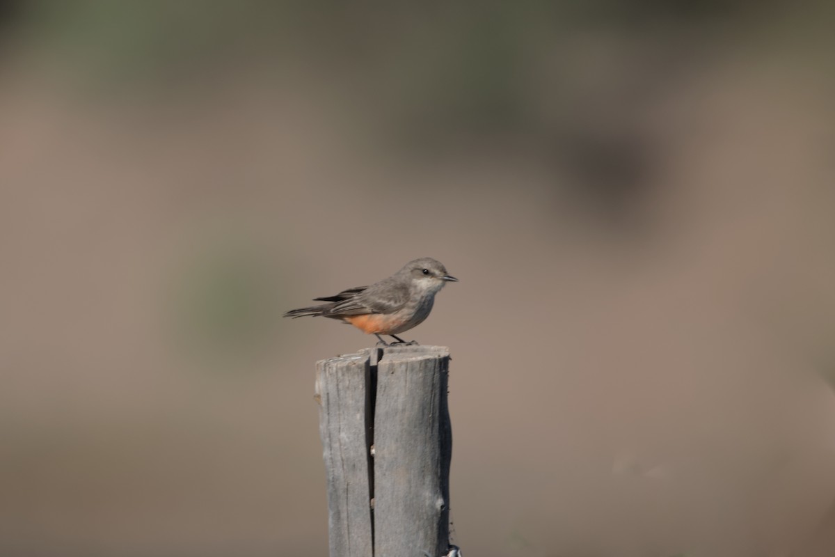
[[367,348],[316,369],[331,557],[448,554],[448,348]]

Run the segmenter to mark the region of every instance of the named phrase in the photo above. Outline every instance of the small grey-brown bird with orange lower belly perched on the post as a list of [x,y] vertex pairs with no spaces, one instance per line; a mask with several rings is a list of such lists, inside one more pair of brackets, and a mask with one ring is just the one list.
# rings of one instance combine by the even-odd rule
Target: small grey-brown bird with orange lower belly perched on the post
[[392,344],[406,342],[398,333],[417,327],[429,316],[438,294],[448,282],[458,282],[447,268],[432,257],[409,261],[392,276],[371,286],[355,286],[334,296],[313,298],[326,301],[319,306],[301,307],[287,311],[285,317],[329,317],[373,334],[382,346],[390,346],[380,335],[392,337]]

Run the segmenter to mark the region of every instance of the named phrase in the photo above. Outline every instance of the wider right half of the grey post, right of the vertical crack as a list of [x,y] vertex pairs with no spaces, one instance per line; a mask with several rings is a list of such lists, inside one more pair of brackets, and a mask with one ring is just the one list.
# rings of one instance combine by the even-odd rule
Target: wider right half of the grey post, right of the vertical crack
[[445,347],[391,348],[377,364],[375,557],[447,554],[448,368]]

